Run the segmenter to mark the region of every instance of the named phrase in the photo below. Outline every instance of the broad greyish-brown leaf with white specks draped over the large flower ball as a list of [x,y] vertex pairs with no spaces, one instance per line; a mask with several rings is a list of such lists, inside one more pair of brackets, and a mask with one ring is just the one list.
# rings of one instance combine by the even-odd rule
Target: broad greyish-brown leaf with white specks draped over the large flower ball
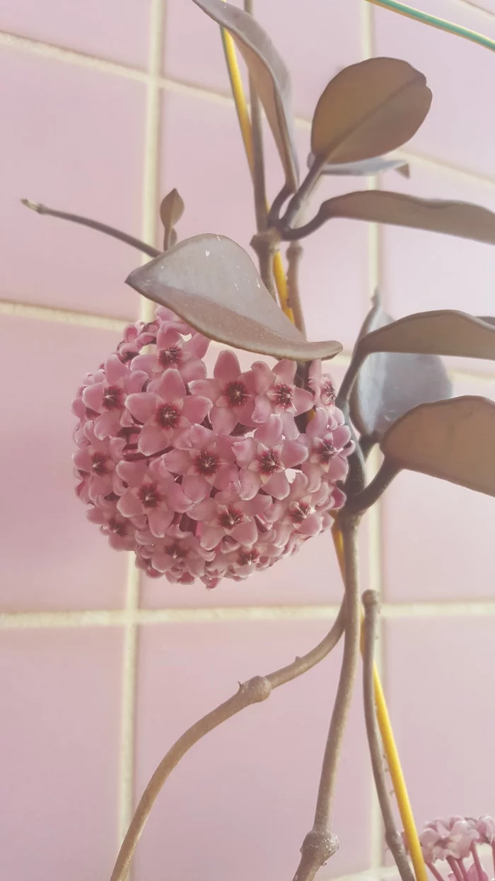
[[272,300],[251,257],[221,235],[196,235],[131,272],[127,285],[220,343],[300,361],[333,358],[334,340],[309,343]]

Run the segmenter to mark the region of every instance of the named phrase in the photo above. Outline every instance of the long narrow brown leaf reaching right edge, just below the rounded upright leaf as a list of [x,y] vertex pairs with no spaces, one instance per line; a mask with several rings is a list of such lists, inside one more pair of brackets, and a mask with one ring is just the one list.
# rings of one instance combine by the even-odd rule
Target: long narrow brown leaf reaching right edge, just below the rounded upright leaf
[[351,218],[410,226],[495,244],[495,214],[470,202],[419,199],[383,189],[366,189],[327,199],[317,216],[324,220]]

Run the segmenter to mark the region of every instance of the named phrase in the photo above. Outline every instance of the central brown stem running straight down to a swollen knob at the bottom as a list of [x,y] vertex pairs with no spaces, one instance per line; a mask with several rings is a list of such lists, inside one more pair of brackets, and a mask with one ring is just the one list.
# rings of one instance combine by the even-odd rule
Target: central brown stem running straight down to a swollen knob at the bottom
[[338,759],[351,705],[353,684],[360,651],[360,595],[358,571],[357,532],[359,519],[346,514],[341,529],[344,546],[344,575],[346,585],[346,630],[344,655],[338,679],[337,695],[331,714],[326,741],[317,808],[313,828],[302,842],[301,860],[294,881],[312,881],[317,870],[338,848],[337,836],[331,833],[331,814],[337,778]]

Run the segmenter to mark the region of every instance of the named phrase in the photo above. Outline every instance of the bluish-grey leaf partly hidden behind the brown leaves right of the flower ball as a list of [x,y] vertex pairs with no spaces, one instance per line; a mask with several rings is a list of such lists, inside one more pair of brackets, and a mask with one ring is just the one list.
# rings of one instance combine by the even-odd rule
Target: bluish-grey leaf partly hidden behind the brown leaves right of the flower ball
[[[374,307],[360,333],[364,337],[392,322],[375,295]],[[436,355],[376,352],[360,366],[349,400],[350,414],[361,434],[379,439],[396,419],[419,403],[450,396],[452,383]]]

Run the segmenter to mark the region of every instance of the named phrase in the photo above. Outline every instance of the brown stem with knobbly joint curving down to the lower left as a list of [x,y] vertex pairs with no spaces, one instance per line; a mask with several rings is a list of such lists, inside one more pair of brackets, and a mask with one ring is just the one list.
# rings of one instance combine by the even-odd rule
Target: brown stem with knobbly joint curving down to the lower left
[[224,701],[219,707],[215,707],[211,713],[207,713],[199,722],[195,722],[182,737],[178,738],[178,741],[176,741],[158,765],[157,770],[142,794],[141,801],[136,808],[135,815],[115,862],[111,881],[124,881],[127,877],[137,842],[141,838],[142,830],[146,825],[157,796],[164,786],[164,782],[186,752],[194,744],[197,744],[201,737],[205,737],[205,735],[221,725],[222,722],[226,722],[231,716],[240,713],[241,710],[244,710],[245,707],[250,707],[251,704],[266,700],[273,691],[273,688],[279,688],[280,685],[285,685],[292,679],[302,676],[307,670],[323,661],[324,657],[330,654],[332,648],[335,648],[344,632],[345,614],[343,603],[329,633],[307,655],[296,657],[293,663],[288,664],[286,667],[281,667],[280,670],[275,670],[273,673],[269,673],[268,676],[255,676],[249,679],[248,682],[244,682],[239,686],[238,692],[229,700]]

